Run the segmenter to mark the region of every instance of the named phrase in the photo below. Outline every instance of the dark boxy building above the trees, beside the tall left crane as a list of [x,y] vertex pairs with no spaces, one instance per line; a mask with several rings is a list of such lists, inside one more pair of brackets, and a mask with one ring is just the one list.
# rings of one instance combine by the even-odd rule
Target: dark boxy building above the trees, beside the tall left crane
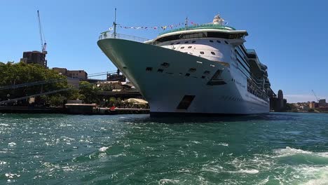
[[37,50],[25,51],[20,62],[26,64],[40,64],[43,67],[47,67],[46,53],[41,53]]

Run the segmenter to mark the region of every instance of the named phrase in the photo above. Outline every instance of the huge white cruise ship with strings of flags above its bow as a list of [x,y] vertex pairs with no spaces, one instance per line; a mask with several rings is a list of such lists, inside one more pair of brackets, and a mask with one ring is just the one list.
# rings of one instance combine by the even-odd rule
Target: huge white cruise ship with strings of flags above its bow
[[265,114],[271,84],[266,65],[244,46],[247,35],[216,15],[148,41],[107,31],[97,44],[149,102],[151,116]]

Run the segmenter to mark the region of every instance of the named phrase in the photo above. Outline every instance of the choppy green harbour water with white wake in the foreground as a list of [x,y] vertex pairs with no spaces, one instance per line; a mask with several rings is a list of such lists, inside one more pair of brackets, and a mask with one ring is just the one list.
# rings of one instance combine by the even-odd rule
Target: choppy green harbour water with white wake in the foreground
[[328,184],[328,114],[0,114],[0,184]]

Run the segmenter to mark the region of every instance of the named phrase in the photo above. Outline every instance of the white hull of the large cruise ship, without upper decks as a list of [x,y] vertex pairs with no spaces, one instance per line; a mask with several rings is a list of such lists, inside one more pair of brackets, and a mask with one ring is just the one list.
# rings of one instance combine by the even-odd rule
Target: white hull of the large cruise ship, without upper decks
[[[269,101],[249,93],[247,81],[235,83],[235,73],[219,62],[123,39],[102,39],[98,46],[142,93],[153,115],[269,112]],[[212,80],[213,85],[218,70],[219,81]],[[192,100],[181,106],[185,96]]]

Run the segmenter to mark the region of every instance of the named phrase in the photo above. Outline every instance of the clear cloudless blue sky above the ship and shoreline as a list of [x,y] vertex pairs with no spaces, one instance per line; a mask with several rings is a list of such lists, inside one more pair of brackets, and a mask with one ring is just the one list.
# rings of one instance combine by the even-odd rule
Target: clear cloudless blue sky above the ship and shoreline
[[[186,16],[211,22],[220,13],[228,25],[246,29],[247,48],[268,66],[271,87],[288,102],[328,99],[328,1],[299,0],[0,0],[0,61],[18,62],[22,52],[41,50],[36,11],[48,44],[48,66],[84,69],[88,74],[115,67],[97,46],[100,32],[117,22],[128,27],[174,25]],[[118,29],[152,39],[158,30]],[[137,49],[137,48],[136,48]]]

